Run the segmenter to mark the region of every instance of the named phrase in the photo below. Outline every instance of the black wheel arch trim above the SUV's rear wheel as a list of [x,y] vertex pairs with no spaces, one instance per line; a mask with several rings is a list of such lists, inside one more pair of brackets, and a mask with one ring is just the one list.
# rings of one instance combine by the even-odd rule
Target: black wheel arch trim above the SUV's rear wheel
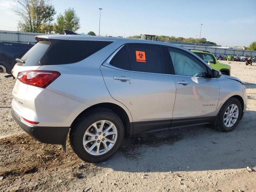
[[88,115],[91,110],[95,110],[97,108],[106,108],[106,109],[112,110],[114,113],[116,113],[121,118],[121,120],[124,124],[124,136],[128,137],[132,134],[132,131],[133,131],[132,123],[130,123],[129,116],[126,113],[126,111],[119,105],[114,104],[114,103],[109,103],[109,102],[95,104],[95,105],[92,105],[92,106],[86,108],[75,118],[75,120],[72,122],[70,128],[72,129],[72,127],[74,126],[74,124],[76,124],[76,122],[78,122],[84,116]]

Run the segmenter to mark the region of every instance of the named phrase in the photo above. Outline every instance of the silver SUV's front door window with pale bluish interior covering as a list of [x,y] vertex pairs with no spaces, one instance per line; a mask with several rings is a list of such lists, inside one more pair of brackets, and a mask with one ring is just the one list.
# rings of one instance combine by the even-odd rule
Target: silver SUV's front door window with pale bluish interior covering
[[176,75],[194,76],[194,77],[206,77],[207,69],[204,64],[199,62],[192,55],[185,51],[168,48],[174,72]]

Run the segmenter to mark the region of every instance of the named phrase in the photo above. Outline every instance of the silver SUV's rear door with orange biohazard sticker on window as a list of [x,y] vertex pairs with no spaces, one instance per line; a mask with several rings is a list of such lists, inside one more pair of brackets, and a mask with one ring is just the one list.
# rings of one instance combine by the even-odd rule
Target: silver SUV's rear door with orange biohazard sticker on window
[[130,110],[134,134],[170,126],[176,86],[160,46],[124,45],[101,71],[111,96]]

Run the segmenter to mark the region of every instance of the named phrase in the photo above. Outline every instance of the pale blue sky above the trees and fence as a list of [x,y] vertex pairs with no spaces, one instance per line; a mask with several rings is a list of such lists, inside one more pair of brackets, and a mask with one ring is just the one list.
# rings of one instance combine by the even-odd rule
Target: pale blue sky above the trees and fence
[[[142,33],[201,38],[222,46],[249,46],[256,41],[256,0],[49,0],[57,14],[74,8],[78,33],[102,36]],[[10,10],[17,0],[0,0],[0,30],[16,30],[19,18]]]

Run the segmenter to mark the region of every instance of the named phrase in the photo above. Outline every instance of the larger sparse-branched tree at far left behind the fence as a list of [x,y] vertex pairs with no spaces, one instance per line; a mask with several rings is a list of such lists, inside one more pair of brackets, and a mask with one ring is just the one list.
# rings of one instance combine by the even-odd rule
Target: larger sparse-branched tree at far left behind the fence
[[12,11],[22,20],[18,22],[20,31],[51,33],[56,11],[47,0],[18,0]]

